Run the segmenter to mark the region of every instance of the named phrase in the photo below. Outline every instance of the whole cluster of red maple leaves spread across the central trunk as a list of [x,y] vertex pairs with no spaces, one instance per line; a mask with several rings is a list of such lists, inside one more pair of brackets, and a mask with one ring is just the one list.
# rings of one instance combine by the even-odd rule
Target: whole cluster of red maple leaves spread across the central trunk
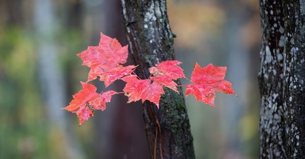
[[[128,45],[122,47],[116,39],[107,37],[101,33],[99,46],[88,46],[87,50],[77,54],[82,60],[82,65],[88,66],[87,82],[81,82],[83,89],[73,95],[73,100],[69,106],[63,108],[72,113],[76,113],[79,118],[79,125],[94,116],[93,110],[106,109],[106,103],[110,102],[112,95],[118,92],[109,90],[103,93],[97,93],[96,86],[89,84],[89,81],[99,79],[104,81],[105,87],[108,87],[115,80],[126,82],[123,92],[128,97],[128,102],[148,100],[153,102],[159,108],[159,101],[164,94],[163,87],[168,87],[179,93],[177,84],[174,80],[186,78],[183,70],[178,66],[181,62],[177,60],[168,60],[151,67],[149,72],[151,76],[148,79],[140,79],[134,74],[137,66],[122,66],[127,62]],[[195,62],[194,71],[191,76],[192,84],[187,85],[186,96],[193,94],[197,101],[214,106],[216,97],[215,91],[221,91],[227,94],[236,94],[229,81],[224,80],[227,67],[216,67],[212,64],[201,68]]]

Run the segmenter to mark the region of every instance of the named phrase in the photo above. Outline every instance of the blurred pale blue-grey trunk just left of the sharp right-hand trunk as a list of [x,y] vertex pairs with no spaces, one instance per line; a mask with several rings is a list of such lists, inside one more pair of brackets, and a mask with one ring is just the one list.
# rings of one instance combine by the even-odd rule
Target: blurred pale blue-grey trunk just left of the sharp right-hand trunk
[[[220,52],[226,52],[225,58],[220,57],[217,54],[214,54],[215,59],[223,60],[222,63],[228,64],[230,69],[227,70],[226,78],[229,81],[232,81],[232,85],[234,86],[235,92],[249,92],[249,85],[241,84],[247,83],[249,81],[248,72],[249,68],[249,50],[245,45],[245,41],[242,41],[240,38],[240,30],[243,25],[245,25],[247,19],[250,18],[250,14],[248,10],[239,10],[238,8],[243,8],[244,4],[240,3],[238,0],[218,0],[220,6],[224,8],[225,11],[225,23],[226,29],[224,29],[224,36],[221,36],[220,43],[214,43],[216,49],[222,48]],[[220,47],[224,45],[223,47]],[[238,62],[236,62],[238,61]],[[243,67],[240,67],[243,66]],[[238,71],[237,71],[238,70]],[[254,75],[254,78],[256,75]],[[248,94],[240,94],[243,100],[248,100]],[[239,94],[238,94],[239,96]],[[226,106],[223,107],[221,112],[221,131],[222,137],[225,137],[222,140],[222,144],[224,145],[223,149],[223,158],[226,158],[227,155],[234,155],[234,157],[241,155],[240,152],[244,149],[245,144],[243,144],[243,140],[240,137],[240,129],[232,129],[238,128],[240,124],[240,120],[245,115],[243,112],[247,110],[247,105],[240,98],[227,99]],[[236,156],[235,156],[236,155]],[[233,157],[233,158],[234,158]]]

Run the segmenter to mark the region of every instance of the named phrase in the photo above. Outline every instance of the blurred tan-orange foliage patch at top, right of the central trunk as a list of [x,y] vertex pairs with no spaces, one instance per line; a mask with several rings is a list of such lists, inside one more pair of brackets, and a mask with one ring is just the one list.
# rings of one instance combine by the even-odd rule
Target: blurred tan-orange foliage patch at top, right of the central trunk
[[212,3],[169,1],[167,6],[177,47],[202,48],[204,41],[220,33],[225,21],[224,11]]

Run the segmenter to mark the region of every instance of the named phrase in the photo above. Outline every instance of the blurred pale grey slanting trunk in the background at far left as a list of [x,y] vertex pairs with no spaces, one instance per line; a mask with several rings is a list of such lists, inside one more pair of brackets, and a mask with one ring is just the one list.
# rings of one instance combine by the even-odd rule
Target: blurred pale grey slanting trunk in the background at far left
[[69,129],[66,115],[61,108],[67,105],[66,86],[63,73],[58,66],[54,34],[58,29],[53,1],[36,0],[34,8],[34,27],[37,33],[39,76],[41,89],[46,102],[48,119],[52,128],[63,135],[62,142],[67,151],[67,157],[73,159],[85,158],[79,143]]

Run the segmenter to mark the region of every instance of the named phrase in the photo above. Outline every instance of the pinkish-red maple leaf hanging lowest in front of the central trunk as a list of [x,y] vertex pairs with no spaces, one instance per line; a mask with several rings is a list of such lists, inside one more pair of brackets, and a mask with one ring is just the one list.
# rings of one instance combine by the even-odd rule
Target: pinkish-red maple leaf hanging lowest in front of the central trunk
[[136,75],[125,76],[121,80],[127,82],[123,89],[126,92],[125,96],[129,97],[127,103],[136,102],[140,99],[142,102],[148,100],[155,103],[159,108],[161,94],[164,94],[162,85],[157,82],[151,83],[149,79],[137,79]]

